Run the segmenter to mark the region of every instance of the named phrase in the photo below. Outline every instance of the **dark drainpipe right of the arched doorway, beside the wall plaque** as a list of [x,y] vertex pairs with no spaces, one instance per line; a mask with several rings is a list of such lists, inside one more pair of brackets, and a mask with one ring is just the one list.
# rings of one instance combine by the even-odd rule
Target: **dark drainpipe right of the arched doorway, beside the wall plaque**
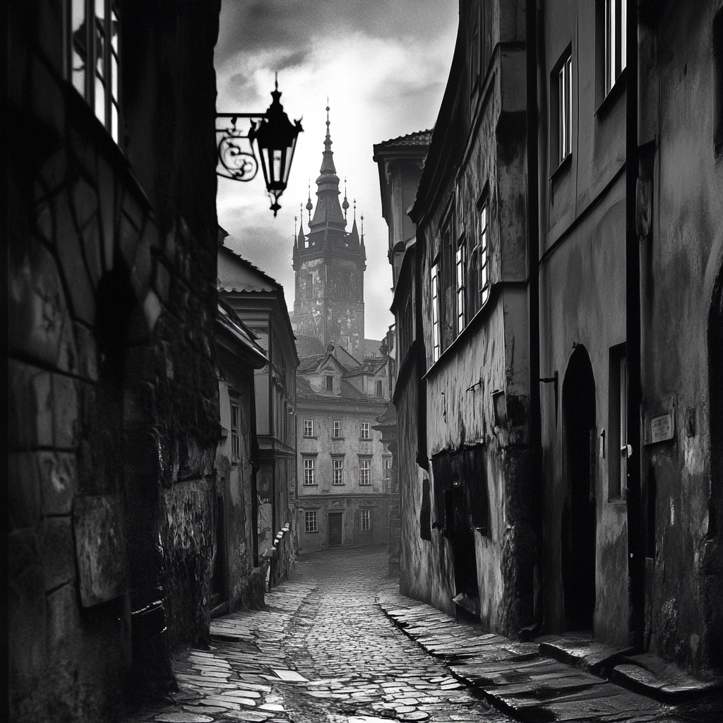
[[638,183],[638,4],[627,3],[625,55],[625,341],[628,362],[628,602],[630,644],[643,647],[645,557],[641,505],[641,295],[636,230]]

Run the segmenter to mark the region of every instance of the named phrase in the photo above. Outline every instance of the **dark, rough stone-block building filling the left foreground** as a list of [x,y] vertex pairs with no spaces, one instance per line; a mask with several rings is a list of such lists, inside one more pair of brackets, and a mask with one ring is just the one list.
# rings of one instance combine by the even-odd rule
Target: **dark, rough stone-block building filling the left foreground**
[[14,721],[112,716],[208,636],[219,6],[9,4]]

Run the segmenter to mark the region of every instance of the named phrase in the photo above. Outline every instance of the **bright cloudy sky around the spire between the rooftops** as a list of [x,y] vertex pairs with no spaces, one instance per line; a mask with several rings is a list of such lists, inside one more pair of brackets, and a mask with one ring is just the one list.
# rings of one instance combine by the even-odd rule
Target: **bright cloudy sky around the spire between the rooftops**
[[[346,177],[358,225],[364,215],[367,338],[381,339],[393,323],[373,145],[434,126],[457,24],[458,0],[223,0],[217,111],[265,111],[278,71],[284,110],[304,127],[276,218],[260,172],[250,183],[218,179],[218,221],[234,237],[229,245],[283,283],[290,311],[294,215],[307,202],[309,179],[316,203],[328,96],[340,200]],[[351,220],[350,208],[348,230]]]

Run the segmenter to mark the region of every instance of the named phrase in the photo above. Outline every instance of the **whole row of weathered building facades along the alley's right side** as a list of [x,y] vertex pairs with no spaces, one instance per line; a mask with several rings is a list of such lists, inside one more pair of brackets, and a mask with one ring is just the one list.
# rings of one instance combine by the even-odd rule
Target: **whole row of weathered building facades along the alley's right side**
[[[492,630],[720,666],[723,6],[462,0],[460,19],[395,277],[419,286],[414,325],[395,309],[423,352],[400,446],[416,413],[431,461],[428,480],[400,463],[402,580],[444,609],[479,589]],[[465,264],[489,283],[471,322]]]

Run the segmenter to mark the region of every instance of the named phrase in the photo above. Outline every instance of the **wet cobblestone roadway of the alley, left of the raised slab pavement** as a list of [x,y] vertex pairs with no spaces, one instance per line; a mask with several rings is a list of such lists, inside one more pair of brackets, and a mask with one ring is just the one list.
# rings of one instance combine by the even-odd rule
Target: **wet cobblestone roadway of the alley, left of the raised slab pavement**
[[387,562],[383,547],[301,557],[267,609],[214,620],[208,649],[176,657],[173,704],[127,723],[508,720],[382,613]]

